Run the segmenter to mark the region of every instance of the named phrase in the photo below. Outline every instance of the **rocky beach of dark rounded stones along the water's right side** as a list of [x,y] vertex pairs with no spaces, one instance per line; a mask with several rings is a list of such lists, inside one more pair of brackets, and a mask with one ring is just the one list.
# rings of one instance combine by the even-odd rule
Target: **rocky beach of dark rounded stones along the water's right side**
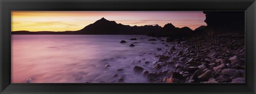
[[[138,72],[151,83],[244,83],[245,82],[245,38],[244,34],[225,33],[214,36],[153,37],[148,41],[165,44],[162,54],[150,70],[134,65]],[[123,43],[124,41],[121,41]],[[171,44],[172,46],[170,46]],[[156,44],[157,45],[157,44]],[[141,60],[143,61],[143,60]],[[151,71],[151,72],[149,72]],[[121,81],[119,81],[121,80]],[[118,82],[125,81],[119,79]]]

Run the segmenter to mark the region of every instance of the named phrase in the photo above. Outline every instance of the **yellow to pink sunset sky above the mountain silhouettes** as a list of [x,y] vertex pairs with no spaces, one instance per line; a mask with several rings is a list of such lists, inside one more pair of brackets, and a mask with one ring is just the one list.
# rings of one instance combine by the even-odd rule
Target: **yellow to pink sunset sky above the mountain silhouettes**
[[130,26],[188,26],[195,30],[204,22],[202,11],[12,11],[12,31],[77,31],[104,17]]

